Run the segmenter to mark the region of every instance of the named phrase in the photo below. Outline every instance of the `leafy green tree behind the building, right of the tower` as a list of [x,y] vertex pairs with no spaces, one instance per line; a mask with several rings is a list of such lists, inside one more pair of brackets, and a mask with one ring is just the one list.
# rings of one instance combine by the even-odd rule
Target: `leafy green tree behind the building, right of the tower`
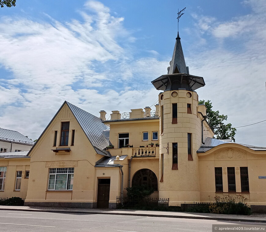
[[212,102],[210,100],[200,100],[198,104],[205,104],[207,110],[207,121],[212,127],[214,134],[217,139],[232,139],[235,142],[235,132],[236,129],[232,127],[231,123],[225,124],[224,121],[227,120],[227,115],[219,113],[219,110],[212,110]]

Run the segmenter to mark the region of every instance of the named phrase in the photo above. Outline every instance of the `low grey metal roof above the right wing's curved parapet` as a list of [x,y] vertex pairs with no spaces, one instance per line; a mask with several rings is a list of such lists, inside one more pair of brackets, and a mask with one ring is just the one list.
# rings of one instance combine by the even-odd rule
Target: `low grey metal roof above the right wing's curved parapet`
[[252,146],[252,145],[248,145],[248,144],[230,142],[230,141],[226,141],[226,140],[220,140],[220,139],[216,139],[216,138],[207,137],[205,139],[205,144],[201,145],[201,147],[198,149],[197,153],[204,153],[204,152],[209,151],[210,149],[212,149],[212,148],[214,148],[220,144],[225,144],[225,143],[239,144],[239,145],[242,145],[244,147],[250,148],[254,151],[266,151],[266,147]]

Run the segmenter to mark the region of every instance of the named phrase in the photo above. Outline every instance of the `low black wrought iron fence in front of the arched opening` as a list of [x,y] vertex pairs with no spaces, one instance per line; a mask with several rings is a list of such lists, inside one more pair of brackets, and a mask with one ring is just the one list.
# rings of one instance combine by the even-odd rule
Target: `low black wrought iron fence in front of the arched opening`
[[116,197],[117,208],[121,207],[122,204],[126,207],[134,207],[137,205],[146,205],[154,207],[168,207],[169,198],[144,198],[144,199],[129,199],[127,197]]

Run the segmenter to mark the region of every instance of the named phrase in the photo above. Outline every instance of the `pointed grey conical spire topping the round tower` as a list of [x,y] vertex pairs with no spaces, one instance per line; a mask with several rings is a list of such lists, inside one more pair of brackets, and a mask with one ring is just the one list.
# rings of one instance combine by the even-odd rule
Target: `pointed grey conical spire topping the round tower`
[[180,42],[179,32],[175,38],[175,48],[173,52],[172,60],[170,61],[170,67],[168,67],[168,74],[173,73],[187,73],[186,62]]

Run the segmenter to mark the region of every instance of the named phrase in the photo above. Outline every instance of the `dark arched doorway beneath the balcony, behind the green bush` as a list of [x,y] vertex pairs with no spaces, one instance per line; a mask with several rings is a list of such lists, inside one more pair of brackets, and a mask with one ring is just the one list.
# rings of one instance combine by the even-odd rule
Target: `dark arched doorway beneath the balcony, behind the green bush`
[[135,175],[132,178],[132,187],[140,185],[147,185],[149,187],[152,187],[154,191],[158,191],[157,176],[150,169],[147,168],[140,169],[135,173]]

